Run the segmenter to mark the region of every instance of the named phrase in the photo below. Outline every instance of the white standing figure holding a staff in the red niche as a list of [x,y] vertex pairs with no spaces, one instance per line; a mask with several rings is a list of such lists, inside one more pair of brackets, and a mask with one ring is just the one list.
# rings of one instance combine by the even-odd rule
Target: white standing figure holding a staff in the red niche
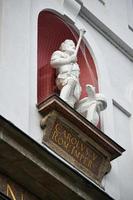
[[75,44],[68,39],[52,54],[50,61],[51,66],[56,68],[56,85],[60,90],[60,97],[72,107],[81,94],[80,69],[76,61]]

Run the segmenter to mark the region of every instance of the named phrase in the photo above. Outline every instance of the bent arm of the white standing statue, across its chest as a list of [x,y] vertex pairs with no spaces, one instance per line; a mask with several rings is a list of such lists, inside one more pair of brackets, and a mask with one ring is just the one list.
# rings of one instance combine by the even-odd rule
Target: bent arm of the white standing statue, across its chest
[[65,56],[63,56],[63,52],[56,51],[51,56],[50,64],[54,68],[58,68],[61,65],[75,63],[76,60],[77,60],[77,58],[76,58],[75,55],[71,55],[71,56],[65,57]]

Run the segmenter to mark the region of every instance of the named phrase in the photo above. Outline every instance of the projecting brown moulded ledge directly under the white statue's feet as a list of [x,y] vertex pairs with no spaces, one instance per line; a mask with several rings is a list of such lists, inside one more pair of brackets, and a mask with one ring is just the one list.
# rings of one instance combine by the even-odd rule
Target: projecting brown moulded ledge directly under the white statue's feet
[[42,116],[46,116],[51,111],[56,110],[63,115],[64,118],[76,124],[76,126],[82,129],[86,134],[89,131],[89,136],[110,153],[111,160],[117,158],[125,151],[125,149],[123,149],[119,144],[117,144],[100,129],[86,120],[82,115],[80,115],[57,95],[52,95],[44,102],[40,103],[38,105],[38,110]]

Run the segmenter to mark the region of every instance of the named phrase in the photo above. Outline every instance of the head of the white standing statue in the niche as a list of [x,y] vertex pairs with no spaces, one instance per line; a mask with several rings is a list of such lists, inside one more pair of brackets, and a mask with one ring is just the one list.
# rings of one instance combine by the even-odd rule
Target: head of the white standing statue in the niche
[[75,52],[75,43],[72,40],[65,40],[61,43],[60,48],[61,51],[68,51],[70,53]]

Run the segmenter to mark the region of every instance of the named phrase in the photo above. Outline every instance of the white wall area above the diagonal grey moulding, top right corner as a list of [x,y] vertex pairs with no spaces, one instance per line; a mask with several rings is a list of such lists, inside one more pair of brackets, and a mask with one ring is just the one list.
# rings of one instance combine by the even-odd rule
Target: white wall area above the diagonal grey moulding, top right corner
[[[105,0],[103,5],[99,0],[83,0],[85,7],[90,10],[99,20],[101,20],[116,35],[124,40],[129,46],[133,47],[132,34],[128,24],[132,24],[133,5],[130,0]],[[130,13],[129,13],[130,12]]]

